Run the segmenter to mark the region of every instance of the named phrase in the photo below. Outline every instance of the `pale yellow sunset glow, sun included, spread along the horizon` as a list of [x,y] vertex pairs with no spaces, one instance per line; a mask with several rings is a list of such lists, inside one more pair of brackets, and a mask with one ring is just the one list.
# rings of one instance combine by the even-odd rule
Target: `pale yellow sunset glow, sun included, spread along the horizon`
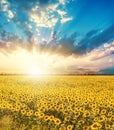
[[[85,67],[86,70],[98,72],[101,67],[106,68],[107,65],[110,67],[110,62],[105,65],[100,60],[97,60],[97,62],[91,60],[94,55],[95,51],[92,51],[81,58],[75,58],[73,55],[65,57],[59,54],[40,52],[35,48],[30,52],[24,48],[18,48],[12,53],[0,53],[0,60],[2,61],[0,63],[2,67],[1,73],[50,75],[82,73],[80,68]],[[90,64],[93,64],[93,66],[91,67]],[[83,70],[84,73],[86,73],[86,70]]]

